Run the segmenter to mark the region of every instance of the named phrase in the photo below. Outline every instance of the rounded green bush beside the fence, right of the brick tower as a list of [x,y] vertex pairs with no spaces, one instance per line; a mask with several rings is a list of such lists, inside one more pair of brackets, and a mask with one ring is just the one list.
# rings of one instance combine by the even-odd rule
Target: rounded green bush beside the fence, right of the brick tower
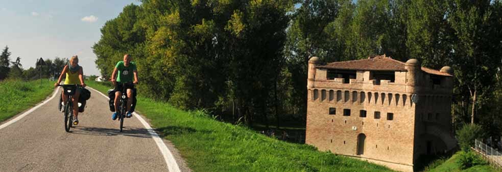
[[477,124],[464,124],[460,130],[457,130],[457,139],[463,151],[469,151],[471,145],[474,143],[474,139],[482,137],[483,130]]

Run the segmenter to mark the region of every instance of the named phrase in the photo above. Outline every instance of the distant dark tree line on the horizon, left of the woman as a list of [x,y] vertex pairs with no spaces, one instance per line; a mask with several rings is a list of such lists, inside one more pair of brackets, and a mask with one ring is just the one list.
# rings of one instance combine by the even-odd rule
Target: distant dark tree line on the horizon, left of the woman
[[[54,77],[55,74],[60,73],[63,67],[68,63],[68,59],[54,58],[45,59],[45,66],[37,66],[23,69],[21,64],[21,57],[18,56],[15,60],[12,59],[12,52],[9,47],[5,46],[0,54],[0,81],[4,79],[23,79],[33,80],[40,78],[40,73],[43,78]],[[35,63],[35,62],[34,62]],[[41,68],[41,69],[40,69]],[[59,75],[58,75],[59,76]]]

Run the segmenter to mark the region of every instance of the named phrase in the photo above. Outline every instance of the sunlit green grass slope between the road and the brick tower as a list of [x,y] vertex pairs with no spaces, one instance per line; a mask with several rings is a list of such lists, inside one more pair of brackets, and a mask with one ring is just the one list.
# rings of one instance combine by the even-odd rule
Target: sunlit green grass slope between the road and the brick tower
[[[109,86],[87,81],[101,92]],[[173,142],[194,171],[391,171],[376,164],[319,152],[308,145],[269,138],[242,126],[212,120],[138,97],[136,109]]]

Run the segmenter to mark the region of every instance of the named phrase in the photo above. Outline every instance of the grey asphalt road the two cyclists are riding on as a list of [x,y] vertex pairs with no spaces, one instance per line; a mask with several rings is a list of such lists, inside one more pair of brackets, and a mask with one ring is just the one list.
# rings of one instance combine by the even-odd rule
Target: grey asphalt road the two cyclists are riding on
[[[108,99],[93,89],[79,125],[64,131],[51,98],[0,125],[0,171],[188,171],[138,114],[111,120]],[[152,139],[153,138],[153,139]]]

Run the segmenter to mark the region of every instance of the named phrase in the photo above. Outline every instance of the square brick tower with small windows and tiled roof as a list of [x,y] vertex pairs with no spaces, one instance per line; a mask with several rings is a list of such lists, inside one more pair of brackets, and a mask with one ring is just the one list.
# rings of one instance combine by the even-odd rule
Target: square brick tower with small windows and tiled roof
[[453,70],[385,55],[308,62],[306,144],[413,171],[422,154],[457,146],[451,131]]

